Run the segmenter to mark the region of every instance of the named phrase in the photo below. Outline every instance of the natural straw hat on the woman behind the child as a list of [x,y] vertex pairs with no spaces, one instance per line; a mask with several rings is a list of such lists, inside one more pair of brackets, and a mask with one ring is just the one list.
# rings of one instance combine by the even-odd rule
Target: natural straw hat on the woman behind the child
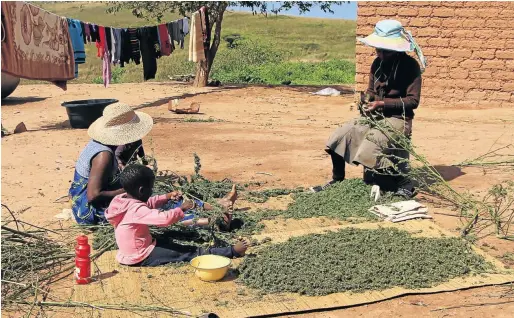
[[130,106],[114,103],[105,107],[103,116],[89,126],[89,137],[109,146],[121,146],[137,141],[150,132],[153,119],[136,112]]

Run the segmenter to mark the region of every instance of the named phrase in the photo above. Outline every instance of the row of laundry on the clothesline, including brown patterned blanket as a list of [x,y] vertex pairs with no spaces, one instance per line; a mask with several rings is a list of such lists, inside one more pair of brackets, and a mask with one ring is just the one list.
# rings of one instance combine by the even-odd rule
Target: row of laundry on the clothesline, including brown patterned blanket
[[[191,27],[189,27],[189,23]],[[23,25],[32,25],[24,32]],[[20,78],[48,80],[66,90],[66,82],[78,77],[78,64],[86,62],[85,45],[95,43],[97,57],[103,60],[102,74],[107,87],[111,64],[143,62],[144,79],[153,79],[156,59],[169,56],[176,41],[184,48],[189,38],[189,61],[204,60],[209,47],[208,18],[205,7],[191,18],[140,27],[106,27],[53,14],[30,3],[2,2],[2,72]],[[22,30],[21,34],[15,30]],[[64,38],[64,42],[58,41]],[[66,41],[68,40],[68,41]],[[36,52],[37,54],[34,54]],[[51,59],[41,60],[42,56]]]

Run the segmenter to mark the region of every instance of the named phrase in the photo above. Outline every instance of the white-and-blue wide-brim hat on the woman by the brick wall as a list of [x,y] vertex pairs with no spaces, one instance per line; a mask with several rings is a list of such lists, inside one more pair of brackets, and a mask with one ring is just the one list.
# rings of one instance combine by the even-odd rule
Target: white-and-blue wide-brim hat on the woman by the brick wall
[[357,40],[377,49],[396,52],[411,52],[414,50],[402,23],[396,20],[379,21],[372,34],[365,38],[357,38]]

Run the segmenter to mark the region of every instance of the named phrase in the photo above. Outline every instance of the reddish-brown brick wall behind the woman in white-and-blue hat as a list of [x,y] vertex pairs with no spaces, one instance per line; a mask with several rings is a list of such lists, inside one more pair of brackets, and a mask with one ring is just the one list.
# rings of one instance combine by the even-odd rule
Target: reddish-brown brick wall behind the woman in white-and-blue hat
[[[401,21],[423,49],[423,105],[514,107],[514,2],[359,2],[357,36],[383,19]],[[374,58],[357,43],[356,90]]]

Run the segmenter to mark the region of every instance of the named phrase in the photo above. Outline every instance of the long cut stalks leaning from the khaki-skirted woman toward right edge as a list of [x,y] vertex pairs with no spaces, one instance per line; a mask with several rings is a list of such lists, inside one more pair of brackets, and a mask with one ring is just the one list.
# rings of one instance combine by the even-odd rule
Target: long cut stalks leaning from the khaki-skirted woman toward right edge
[[[498,237],[514,238],[510,226],[514,218],[514,209],[512,208],[512,191],[514,188],[512,185],[497,185],[490,190],[485,198],[477,200],[471,195],[453,189],[425,156],[417,151],[410,138],[392,127],[381,114],[370,115],[363,112],[361,123],[378,130],[389,139],[389,145],[387,145],[387,149],[384,149],[384,157],[395,162],[395,166],[388,174],[411,178],[418,183],[420,189],[449,202],[460,211],[460,216],[467,220],[462,229],[462,235],[469,234],[473,229],[482,231],[493,226]],[[394,153],[402,151],[406,151],[410,155],[410,160],[394,155]],[[409,168],[406,169],[405,167]],[[374,172],[377,174],[383,173],[376,170]],[[502,191],[496,191],[500,188]],[[498,204],[501,206],[497,206]],[[478,223],[480,223],[480,226],[476,227]]]

